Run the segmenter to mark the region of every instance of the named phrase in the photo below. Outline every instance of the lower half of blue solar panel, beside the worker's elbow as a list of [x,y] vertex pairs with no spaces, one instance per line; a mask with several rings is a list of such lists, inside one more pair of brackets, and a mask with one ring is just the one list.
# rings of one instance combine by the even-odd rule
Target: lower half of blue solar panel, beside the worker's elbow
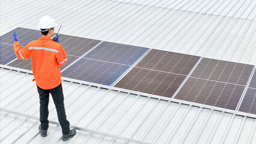
[[129,66],[82,58],[61,73],[63,77],[111,85]]

